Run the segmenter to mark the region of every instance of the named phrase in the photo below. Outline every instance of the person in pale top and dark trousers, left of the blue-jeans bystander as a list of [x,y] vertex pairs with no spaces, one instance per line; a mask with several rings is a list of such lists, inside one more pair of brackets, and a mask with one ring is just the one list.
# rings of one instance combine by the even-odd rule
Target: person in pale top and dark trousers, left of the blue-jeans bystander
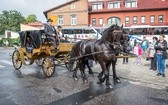
[[150,70],[156,70],[157,69],[157,62],[156,62],[156,50],[154,48],[158,38],[153,37],[153,42],[149,45],[148,52],[150,57]]

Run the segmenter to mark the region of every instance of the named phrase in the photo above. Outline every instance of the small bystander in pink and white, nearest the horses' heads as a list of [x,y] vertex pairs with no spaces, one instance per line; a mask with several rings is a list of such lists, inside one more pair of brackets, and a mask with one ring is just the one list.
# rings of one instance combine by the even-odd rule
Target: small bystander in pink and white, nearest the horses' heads
[[136,46],[134,47],[134,54],[137,55],[137,58],[135,59],[134,64],[135,65],[141,65],[141,59],[142,59],[142,48],[141,44],[137,42]]

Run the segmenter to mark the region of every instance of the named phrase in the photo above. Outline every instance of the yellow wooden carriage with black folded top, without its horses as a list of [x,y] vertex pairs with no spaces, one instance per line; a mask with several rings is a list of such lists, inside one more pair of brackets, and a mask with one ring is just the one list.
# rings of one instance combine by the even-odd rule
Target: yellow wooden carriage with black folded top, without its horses
[[19,35],[21,46],[15,46],[12,55],[16,70],[19,70],[22,64],[31,65],[36,62],[42,65],[45,76],[50,77],[55,72],[55,61],[67,66],[73,43],[59,43],[59,49],[56,50],[44,30],[21,31]]

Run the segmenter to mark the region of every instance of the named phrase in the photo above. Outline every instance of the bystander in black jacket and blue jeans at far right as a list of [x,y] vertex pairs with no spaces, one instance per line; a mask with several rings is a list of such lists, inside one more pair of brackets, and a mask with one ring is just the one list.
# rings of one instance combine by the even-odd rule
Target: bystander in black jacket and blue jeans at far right
[[157,76],[162,75],[162,77],[165,77],[165,59],[167,59],[167,41],[164,40],[164,38],[164,35],[160,35],[159,40],[155,44],[156,60],[158,64]]

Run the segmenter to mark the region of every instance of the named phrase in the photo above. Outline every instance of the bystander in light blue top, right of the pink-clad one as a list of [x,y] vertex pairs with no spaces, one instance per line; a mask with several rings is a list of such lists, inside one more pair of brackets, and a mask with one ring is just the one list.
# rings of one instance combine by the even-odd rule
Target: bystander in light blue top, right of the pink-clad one
[[143,49],[142,57],[145,59],[147,57],[147,49],[149,47],[149,41],[146,39],[146,37],[143,37],[143,40],[141,42],[141,47]]

